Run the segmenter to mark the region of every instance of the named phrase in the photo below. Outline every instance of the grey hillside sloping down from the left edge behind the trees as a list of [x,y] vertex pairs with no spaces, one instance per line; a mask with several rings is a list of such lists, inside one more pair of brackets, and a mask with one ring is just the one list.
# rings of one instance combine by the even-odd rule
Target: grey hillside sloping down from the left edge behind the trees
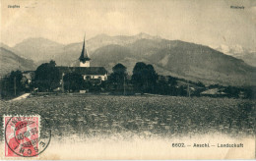
[[0,47],[0,66],[1,77],[11,71],[30,71],[36,68],[32,60],[22,58],[4,47]]

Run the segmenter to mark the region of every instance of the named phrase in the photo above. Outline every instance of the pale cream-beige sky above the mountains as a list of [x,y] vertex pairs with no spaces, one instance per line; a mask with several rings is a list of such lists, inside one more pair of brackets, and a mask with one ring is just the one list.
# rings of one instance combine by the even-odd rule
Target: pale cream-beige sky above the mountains
[[[68,44],[97,34],[145,32],[210,46],[256,50],[255,0],[0,0],[0,41],[29,37]],[[20,8],[8,8],[18,5]],[[244,7],[233,9],[230,6]]]

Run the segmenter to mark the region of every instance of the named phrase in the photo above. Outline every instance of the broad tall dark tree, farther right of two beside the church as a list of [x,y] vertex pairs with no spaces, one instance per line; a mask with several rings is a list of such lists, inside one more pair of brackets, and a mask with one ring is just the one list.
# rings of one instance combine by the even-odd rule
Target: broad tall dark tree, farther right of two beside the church
[[133,69],[132,82],[137,91],[154,92],[157,84],[158,74],[152,65],[143,62],[136,63]]

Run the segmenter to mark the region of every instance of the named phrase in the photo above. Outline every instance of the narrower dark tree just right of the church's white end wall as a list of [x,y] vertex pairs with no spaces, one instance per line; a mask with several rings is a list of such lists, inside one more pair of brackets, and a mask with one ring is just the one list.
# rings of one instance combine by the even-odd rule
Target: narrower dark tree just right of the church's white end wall
[[112,68],[113,73],[109,76],[108,81],[113,85],[115,90],[123,90],[125,80],[127,80],[126,67],[120,63]]

